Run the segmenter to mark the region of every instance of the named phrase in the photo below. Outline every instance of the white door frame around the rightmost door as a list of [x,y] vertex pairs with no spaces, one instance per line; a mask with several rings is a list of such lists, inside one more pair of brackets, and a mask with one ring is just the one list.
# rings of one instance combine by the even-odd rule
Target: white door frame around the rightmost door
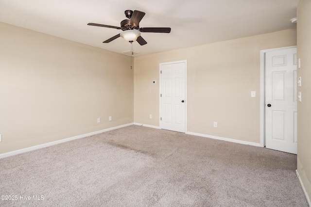
[[283,47],[283,48],[272,48],[260,50],[260,146],[264,147],[266,145],[265,140],[265,53],[283,49],[297,48],[297,46]]

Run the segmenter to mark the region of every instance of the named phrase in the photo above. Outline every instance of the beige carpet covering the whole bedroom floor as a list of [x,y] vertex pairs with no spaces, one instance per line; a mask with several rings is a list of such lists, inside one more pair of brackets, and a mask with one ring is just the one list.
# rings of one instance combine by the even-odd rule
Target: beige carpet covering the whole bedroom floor
[[130,126],[0,159],[0,206],[307,207],[295,169],[293,154]]

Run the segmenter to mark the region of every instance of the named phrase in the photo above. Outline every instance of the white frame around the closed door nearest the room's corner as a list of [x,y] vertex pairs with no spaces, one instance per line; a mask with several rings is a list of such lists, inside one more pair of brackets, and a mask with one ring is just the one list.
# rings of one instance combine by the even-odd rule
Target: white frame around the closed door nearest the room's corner
[[161,124],[161,87],[162,87],[162,82],[161,82],[161,66],[164,64],[178,64],[178,63],[184,63],[185,64],[185,133],[187,133],[187,106],[188,106],[188,98],[187,98],[187,76],[188,76],[188,70],[187,70],[187,60],[182,60],[182,61],[173,61],[173,62],[166,62],[166,63],[160,63],[159,64],[159,126],[162,128]]

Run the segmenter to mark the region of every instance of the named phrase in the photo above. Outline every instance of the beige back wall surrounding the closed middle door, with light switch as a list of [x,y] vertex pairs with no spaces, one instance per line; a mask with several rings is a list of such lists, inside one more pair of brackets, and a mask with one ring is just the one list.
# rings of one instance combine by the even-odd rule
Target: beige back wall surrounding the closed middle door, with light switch
[[295,45],[285,30],[136,57],[134,122],[159,126],[159,64],[187,60],[188,131],[260,143],[260,50]]

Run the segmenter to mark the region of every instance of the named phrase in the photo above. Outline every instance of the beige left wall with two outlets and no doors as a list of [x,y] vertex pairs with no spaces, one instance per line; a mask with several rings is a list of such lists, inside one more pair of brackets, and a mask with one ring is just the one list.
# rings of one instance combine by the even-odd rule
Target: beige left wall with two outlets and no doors
[[0,23],[0,154],[133,123],[133,85],[129,56]]

